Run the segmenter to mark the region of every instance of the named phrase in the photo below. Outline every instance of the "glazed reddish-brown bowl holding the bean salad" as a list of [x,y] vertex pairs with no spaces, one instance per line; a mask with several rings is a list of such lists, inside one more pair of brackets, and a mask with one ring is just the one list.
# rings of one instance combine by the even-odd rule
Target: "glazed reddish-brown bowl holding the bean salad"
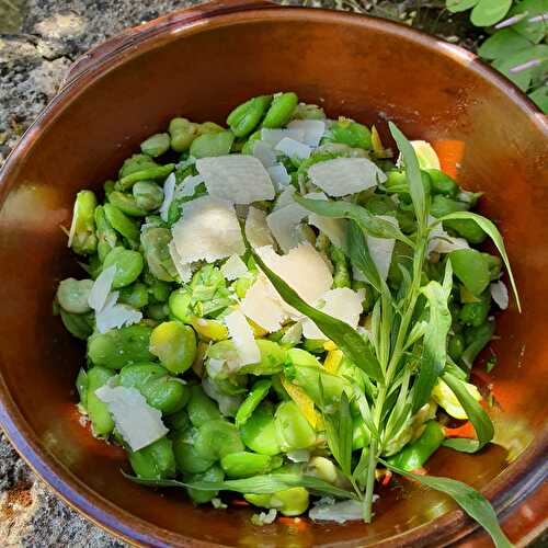
[[384,492],[369,526],[302,520],[254,527],[250,509],[193,507],[182,492],[128,482],[123,453],[79,424],[73,380],[84,349],[52,317],[56,282],[82,274],[59,229],[75,193],[100,189],[173,115],[221,122],[243,99],[287,89],[328,113],[376,123],[385,138],[393,119],[413,138],[461,141],[458,179],[486,192],[482,208],[500,221],[524,312],[512,306],[501,316],[492,344],[500,363],[483,378],[494,385],[499,438],[510,453],[499,445],[472,456],[443,449],[429,470],[483,490],[510,537],[526,543],[548,514],[548,490],[539,487],[548,447],[546,119],[473,55],[379,19],[212,2],[129,30],[75,65],[0,175],[5,433],[69,504],[136,544],[488,543],[448,498],[409,483]]

